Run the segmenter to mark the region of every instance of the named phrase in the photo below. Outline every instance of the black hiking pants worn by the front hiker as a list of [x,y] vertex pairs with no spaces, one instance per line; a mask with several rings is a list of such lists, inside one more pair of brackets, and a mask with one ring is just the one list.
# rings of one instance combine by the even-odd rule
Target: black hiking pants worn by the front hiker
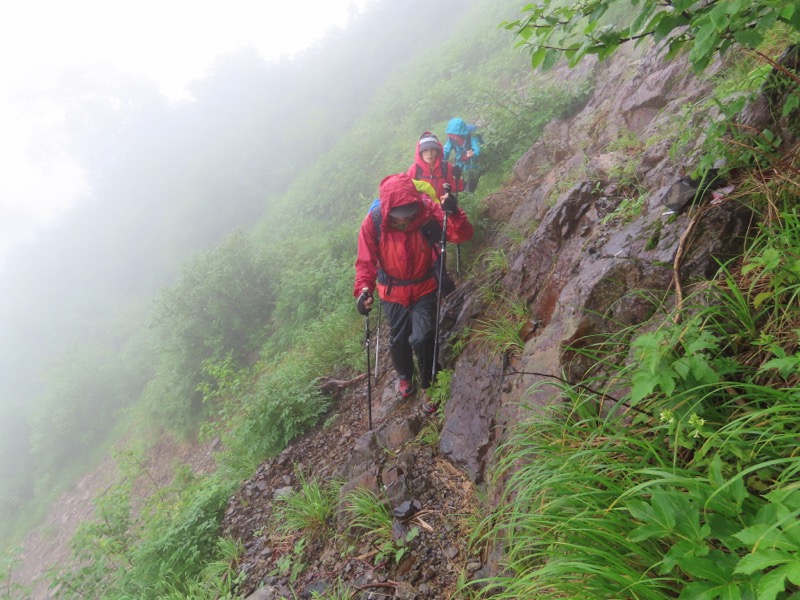
[[436,335],[436,292],[423,296],[411,306],[383,301],[389,322],[389,354],[397,375],[411,379],[414,354],[419,366],[420,387],[431,385],[433,346]]

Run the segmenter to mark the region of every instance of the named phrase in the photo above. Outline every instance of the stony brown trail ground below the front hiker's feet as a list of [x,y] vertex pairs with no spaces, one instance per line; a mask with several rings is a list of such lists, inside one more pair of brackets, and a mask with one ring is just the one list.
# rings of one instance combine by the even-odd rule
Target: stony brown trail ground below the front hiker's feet
[[[240,563],[241,570],[247,573],[240,590],[243,595],[263,587],[257,598],[292,598],[292,594],[309,597],[312,591],[322,592],[340,578],[353,589],[375,592],[375,598],[406,597],[399,593],[413,593],[408,596],[413,598],[450,598],[459,576],[483,566],[480,553],[467,545],[477,518],[475,490],[466,474],[443,459],[435,443],[430,443],[435,442],[434,417],[426,417],[423,426],[429,436],[420,435],[402,448],[385,449],[387,460],[404,454],[407,461],[413,462],[414,471],[424,473],[430,483],[419,498],[409,498],[417,500],[421,510],[408,520],[395,522],[400,531],[413,527],[420,531],[410,552],[399,563],[391,556],[380,557],[379,548],[369,536],[348,539],[329,535],[309,542],[295,554],[295,545],[303,534],[287,538],[270,533],[272,505],[278,490],[296,490],[298,474],[306,480],[325,483],[353,454],[354,445],[368,429],[365,398],[365,384],[344,395],[329,421],[264,463],[229,503],[224,533],[240,540],[246,548]],[[377,427],[381,423],[376,418],[381,414],[380,398],[374,400],[373,425]],[[418,413],[419,401],[412,399],[386,418],[407,418]],[[285,557],[299,573],[284,572],[282,565],[288,563],[281,559]]]

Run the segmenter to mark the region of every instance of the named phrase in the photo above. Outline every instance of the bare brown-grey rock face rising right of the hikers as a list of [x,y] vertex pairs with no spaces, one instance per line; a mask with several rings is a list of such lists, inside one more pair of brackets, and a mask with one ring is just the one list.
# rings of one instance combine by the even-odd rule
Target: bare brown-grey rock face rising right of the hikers
[[[545,406],[557,391],[542,384],[585,374],[590,365],[573,349],[648,318],[652,298],[667,297],[676,278],[685,285],[712,275],[718,260],[741,250],[750,224],[746,209],[722,201],[704,211],[702,235],[682,239],[697,211],[674,214],[663,204],[694,168],[701,142],[677,160],[667,154],[676,115],[708,93],[684,60],[665,63],[651,51],[584,69],[567,77],[593,77],[594,96],[552,122],[518,161],[520,193],[496,215],[528,232],[518,244],[507,233],[495,239],[508,258],[501,295],[528,306],[524,350],[509,364],[471,344],[455,361],[441,449],[476,482],[521,403]],[[634,141],[626,148],[623,137]],[[489,284],[477,278],[450,308],[456,332],[486,313],[478,292]]]

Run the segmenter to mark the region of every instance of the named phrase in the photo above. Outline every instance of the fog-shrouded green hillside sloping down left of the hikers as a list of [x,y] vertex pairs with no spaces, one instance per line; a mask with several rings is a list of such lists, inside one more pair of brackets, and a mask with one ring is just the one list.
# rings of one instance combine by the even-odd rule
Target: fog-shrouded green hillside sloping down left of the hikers
[[291,61],[229,56],[185,103],[139,82],[104,96],[62,82],[94,194],[6,275],[3,540],[122,432],[219,419],[221,370],[271,374],[259,384],[269,399],[257,393],[271,408],[228,415],[246,420],[231,436],[238,473],[325,411],[308,383],[358,357],[354,231],[380,179],[454,114],[491,123],[499,178],[526,144],[515,134],[535,135],[570,101],[530,96],[527,59],[497,27],[517,11],[376,3]]

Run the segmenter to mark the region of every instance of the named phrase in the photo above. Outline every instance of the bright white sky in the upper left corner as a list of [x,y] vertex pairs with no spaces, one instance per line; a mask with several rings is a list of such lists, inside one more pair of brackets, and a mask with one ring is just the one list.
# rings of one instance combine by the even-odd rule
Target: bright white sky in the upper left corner
[[150,80],[174,101],[223,54],[291,56],[377,0],[33,0],[0,7],[0,270],[8,249],[88,193],[63,152],[64,69]]

